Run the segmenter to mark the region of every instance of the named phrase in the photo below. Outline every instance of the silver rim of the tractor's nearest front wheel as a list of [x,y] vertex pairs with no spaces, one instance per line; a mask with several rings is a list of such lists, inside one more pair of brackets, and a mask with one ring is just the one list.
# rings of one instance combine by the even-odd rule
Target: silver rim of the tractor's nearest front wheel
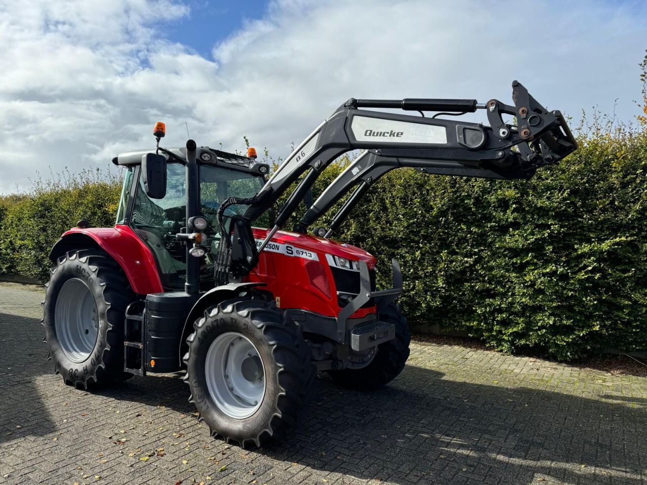
[[217,336],[206,354],[209,394],[227,416],[252,416],[265,397],[265,365],[256,346],[238,332]]

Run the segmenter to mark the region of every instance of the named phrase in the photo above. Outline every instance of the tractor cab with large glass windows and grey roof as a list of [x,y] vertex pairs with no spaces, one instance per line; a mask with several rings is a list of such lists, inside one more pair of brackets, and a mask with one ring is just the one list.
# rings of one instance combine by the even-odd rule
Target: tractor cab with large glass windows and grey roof
[[[116,224],[129,226],[155,257],[164,290],[182,290],[186,283],[186,251],[178,233],[188,233],[186,205],[186,150],[170,149],[166,158],[166,189],[160,198],[151,197],[142,173],[142,156],[149,150],[131,151],[113,159],[116,165],[126,167],[124,184],[117,211]],[[250,154],[252,151],[250,150]],[[255,151],[253,152],[255,154]],[[242,156],[199,147],[197,154],[197,198],[199,216],[206,220],[201,233],[206,248],[201,256],[200,289],[214,286],[214,255],[221,239],[217,211],[230,197],[248,198],[256,194],[266,182],[269,166],[256,161],[255,156]],[[152,180],[147,180],[152,182]],[[242,215],[245,204],[234,204],[225,210],[225,218]],[[267,211],[257,224],[272,225],[272,211]]]

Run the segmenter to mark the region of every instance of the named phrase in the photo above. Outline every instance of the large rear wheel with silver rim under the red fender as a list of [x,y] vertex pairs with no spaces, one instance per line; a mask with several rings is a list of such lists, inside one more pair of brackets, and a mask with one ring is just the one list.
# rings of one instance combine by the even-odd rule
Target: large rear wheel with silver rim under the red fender
[[120,266],[102,250],[69,252],[45,286],[45,343],[65,383],[87,389],[131,377],[124,372],[124,315],[135,295]]

